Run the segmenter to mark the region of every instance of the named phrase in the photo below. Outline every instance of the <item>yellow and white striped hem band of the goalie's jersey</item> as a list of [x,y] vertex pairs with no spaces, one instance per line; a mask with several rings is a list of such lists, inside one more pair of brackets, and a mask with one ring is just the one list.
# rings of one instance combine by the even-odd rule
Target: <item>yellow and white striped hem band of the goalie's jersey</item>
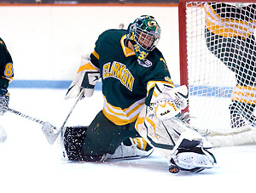
[[126,109],[121,109],[120,107],[110,105],[104,96],[102,111],[104,116],[106,116],[111,122],[116,125],[125,125],[137,120],[137,116],[140,111],[142,111],[144,102],[145,98],[138,100]]

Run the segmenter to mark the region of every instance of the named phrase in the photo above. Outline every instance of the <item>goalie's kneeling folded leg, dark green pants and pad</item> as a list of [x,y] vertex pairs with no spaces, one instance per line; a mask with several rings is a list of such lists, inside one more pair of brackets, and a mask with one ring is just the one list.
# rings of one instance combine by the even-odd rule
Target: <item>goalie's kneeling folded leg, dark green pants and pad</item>
[[[148,156],[149,146],[135,139],[134,124],[117,126],[102,111],[89,127],[69,127],[63,134],[66,155],[72,161],[100,161],[113,158]],[[151,149],[151,148],[150,148]]]

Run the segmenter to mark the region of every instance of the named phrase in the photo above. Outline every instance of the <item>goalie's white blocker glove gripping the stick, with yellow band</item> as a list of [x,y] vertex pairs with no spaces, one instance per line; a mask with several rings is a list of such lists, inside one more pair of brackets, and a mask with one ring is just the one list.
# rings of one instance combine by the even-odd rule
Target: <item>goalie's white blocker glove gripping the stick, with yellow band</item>
[[84,96],[92,96],[96,82],[100,77],[99,69],[90,62],[90,57],[88,55],[82,56],[79,71],[68,88],[65,99],[76,98],[81,91],[83,91],[82,99]]

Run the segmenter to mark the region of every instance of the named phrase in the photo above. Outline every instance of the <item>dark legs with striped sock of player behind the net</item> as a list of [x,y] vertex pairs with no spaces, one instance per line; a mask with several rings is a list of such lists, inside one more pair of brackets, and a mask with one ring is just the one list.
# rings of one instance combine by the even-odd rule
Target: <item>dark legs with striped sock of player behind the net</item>
[[[256,96],[256,44],[255,37],[221,37],[206,29],[207,48],[224,65],[236,73],[236,88],[232,92],[230,121],[232,128],[243,127],[246,122],[255,124]],[[246,120],[246,122],[245,122]]]

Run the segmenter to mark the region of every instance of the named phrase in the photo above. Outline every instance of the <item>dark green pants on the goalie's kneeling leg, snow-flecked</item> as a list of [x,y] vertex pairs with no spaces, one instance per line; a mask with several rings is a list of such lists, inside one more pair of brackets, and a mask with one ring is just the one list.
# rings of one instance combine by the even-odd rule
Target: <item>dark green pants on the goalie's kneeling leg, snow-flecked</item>
[[107,154],[113,154],[128,137],[139,136],[132,128],[132,124],[125,126],[115,125],[110,122],[100,111],[90,126],[87,128],[83,142],[83,156],[85,161],[98,161]]

